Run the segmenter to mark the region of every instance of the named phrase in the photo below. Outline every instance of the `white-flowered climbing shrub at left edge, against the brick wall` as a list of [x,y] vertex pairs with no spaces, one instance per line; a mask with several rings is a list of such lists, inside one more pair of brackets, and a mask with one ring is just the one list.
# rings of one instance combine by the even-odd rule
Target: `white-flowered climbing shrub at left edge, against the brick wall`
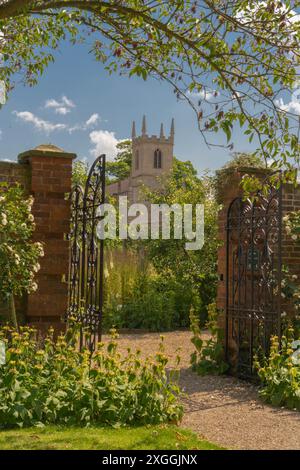
[[[31,239],[35,228],[32,204],[33,198],[26,199],[19,186],[0,185],[0,297],[4,300],[37,289],[34,276],[44,252],[41,243]],[[13,301],[12,310],[16,323]]]

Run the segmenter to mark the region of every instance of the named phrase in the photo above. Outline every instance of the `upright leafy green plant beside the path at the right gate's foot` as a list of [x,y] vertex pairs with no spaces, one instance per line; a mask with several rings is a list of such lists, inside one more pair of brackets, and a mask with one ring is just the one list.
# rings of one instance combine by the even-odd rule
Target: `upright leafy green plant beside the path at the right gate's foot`
[[222,344],[222,329],[218,326],[218,311],[216,304],[211,304],[208,310],[207,328],[210,334],[209,339],[202,339],[199,319],[195,312],[190,313],[191,339],[196,348],[191,355],[191,365],[195,372],[200,375],[224,374],[228,365],[224,362],[224,349]]

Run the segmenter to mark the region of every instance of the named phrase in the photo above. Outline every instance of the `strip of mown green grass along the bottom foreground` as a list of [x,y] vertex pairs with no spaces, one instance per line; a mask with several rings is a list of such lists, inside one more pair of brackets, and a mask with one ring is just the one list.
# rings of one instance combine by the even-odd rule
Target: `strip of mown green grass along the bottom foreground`
[[1,450],[217,450],[176,426],[78,428],[46,426],[0,431]]

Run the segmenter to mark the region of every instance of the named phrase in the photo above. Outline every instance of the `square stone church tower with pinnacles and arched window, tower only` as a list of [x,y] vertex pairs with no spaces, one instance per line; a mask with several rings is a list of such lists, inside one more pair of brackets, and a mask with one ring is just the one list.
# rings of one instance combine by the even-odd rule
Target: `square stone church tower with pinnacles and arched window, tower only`
[[[147,134],[146,116],[143,117],[142,133],[136,135],[135,122],[132,124],[132,179],[142,179],[147,186],[152,186],[157,177],[168,173],[173,165],[174,149],[174,119],[172,120],[170,135],[165,136],[164,126],[161,124],[159,136]],[[156,186],[154,184],[154,186]]]

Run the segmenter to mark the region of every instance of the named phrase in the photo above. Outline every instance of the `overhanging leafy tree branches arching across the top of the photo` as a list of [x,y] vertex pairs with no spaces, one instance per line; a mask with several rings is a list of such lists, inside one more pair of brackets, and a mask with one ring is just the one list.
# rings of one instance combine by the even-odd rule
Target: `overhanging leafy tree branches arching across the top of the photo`
[[[0,79],[34,84],[64,39],[93,39],[112,73],[170,83],[213,145],[232,148],[238,124],[257,152],[296,178],[297,107],[284,100],[299,75],[299,0],[0,0]],[[296,93],[297,95],[297,93]],[[293,99],[297,96],[294,95]],[[293,102],[293,101],[292,101]]]

